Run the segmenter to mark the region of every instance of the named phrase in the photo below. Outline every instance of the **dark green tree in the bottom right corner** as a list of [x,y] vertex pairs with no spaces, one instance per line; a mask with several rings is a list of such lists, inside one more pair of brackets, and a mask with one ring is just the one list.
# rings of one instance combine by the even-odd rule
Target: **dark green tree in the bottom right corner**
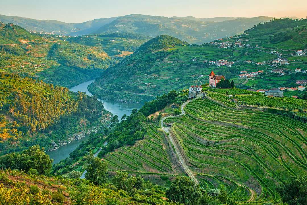
[[282,201],[289,205],[307,204],[307,176],[296,176],[277,187]]

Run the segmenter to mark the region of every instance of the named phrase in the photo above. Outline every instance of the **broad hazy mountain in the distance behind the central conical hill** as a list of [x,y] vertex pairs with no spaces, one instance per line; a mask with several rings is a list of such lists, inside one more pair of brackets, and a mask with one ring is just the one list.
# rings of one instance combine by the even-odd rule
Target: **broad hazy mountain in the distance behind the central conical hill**
[[[95,33],[136,33],[150,37],[167,34],[177,37],[189,43],[202,44],[213,41],[216,38],[233,36],[242,33],[259,22],[266,22],[271,17],[237,18],[222,22],[209,22],[187,18],[167,18],[160,16],[149,16],[131,14],[119,17],[109,24],[102,26]],[[211,19],[221,20],[221,19]],[[210,21],[211,21],[210,20]]]

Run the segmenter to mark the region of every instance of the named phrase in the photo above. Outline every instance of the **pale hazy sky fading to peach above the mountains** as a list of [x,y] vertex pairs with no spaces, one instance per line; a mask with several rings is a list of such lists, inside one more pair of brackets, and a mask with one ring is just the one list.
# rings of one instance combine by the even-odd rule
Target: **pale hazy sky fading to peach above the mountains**
[[1,0],[0,14],[73,23],[127,14],[306,18],[306,8],[306,0]]

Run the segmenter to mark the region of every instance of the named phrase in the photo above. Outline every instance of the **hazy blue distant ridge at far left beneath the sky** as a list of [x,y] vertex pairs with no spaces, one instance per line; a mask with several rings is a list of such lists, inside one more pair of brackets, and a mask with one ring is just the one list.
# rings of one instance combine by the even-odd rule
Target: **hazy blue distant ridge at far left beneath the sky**
[[0,14],[0,21],[5,24],[13,23],[25,28],[26,30],[72,36],[90,34],[104,24],[110,23],[115,19],[116,17],[99,18],[83,23],[65,23],[56,20],[37,20]]

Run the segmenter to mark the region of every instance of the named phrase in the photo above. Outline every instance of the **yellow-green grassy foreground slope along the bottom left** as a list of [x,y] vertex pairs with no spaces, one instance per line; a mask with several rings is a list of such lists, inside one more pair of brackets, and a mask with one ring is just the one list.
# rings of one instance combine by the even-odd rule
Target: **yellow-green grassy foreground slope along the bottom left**
[[[29,186],[38,187],[38,195],[31,193]],[[149,185],[148,190],[134,191],[134,194],[116,189],[111,184],[95,186],[81,179],[61,179],[55,176],[27,175],[21,171],[0,171],[0,198],[3,204],[80,204],[94,205],[115,203],[174,205],[165,198],[165,191]],[[55,200],[55,193],[64,195],[64,203]],[[135,195],[137,195],[135,197]],[[28,200],[28,203],[26,202]],[[177,204],[177,203],[176,203]]]

